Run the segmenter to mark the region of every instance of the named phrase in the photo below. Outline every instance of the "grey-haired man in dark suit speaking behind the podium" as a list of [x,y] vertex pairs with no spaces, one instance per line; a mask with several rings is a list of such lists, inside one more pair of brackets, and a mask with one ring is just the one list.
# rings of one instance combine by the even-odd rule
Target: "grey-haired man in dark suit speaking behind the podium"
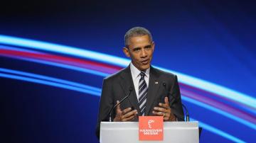
[[[98,138],[101,121],[138,121],[142,115],[164,116],[164,121],[184,118],[177,76],[151,67],[155,44],[149,30],[142,27],[128,30],[124,44],[122,50],[132,62],[103,81],[96,128]],[[128,98],[110,111],[126,96]]]

